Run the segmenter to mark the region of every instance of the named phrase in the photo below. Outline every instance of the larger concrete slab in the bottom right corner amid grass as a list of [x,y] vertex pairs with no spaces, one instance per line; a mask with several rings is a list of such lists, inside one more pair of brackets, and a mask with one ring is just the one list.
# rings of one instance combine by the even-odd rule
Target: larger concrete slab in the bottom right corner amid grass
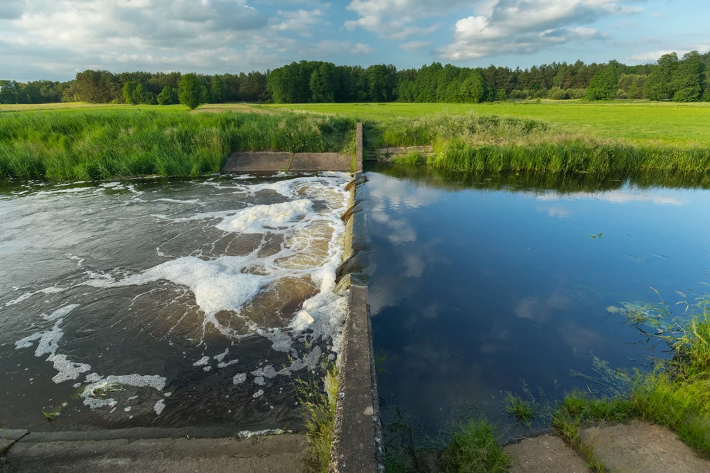
[[582,430],[582,440],[612,472],[710,473],[710,461],[695,455],[671,430],[634,420],[628,425]]

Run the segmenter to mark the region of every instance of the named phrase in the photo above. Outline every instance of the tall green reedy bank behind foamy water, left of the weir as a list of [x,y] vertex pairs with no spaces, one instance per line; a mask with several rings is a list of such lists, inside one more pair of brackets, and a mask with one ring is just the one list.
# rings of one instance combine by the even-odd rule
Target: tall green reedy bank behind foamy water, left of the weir
[[0,177],[217,173],[231,151],[354,152],[354,121],[312,114],[0,114]]

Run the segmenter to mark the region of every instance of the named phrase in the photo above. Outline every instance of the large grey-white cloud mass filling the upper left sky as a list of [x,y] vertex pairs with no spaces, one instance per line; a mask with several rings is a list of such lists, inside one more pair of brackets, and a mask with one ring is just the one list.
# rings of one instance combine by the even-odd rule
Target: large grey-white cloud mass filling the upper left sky
[[0,63],[4,76],[33,80],[87,68],[265,70],[370,53],[363,43],[297,39],[327,9],[315,0],[0,0]]

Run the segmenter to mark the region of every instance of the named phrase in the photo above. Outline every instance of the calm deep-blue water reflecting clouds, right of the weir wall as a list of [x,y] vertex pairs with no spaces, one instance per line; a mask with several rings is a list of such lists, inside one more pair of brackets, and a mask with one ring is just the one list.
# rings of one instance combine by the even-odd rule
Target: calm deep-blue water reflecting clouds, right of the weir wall
[[[371,290],[379,395],[419,432],[463,403],[492,420],[503,391],[552,403],[596,376],[665,357],[621,301],[710,293],[707,176],[439,175],[373,168],[362,265]],[[524,384],[523,384],[524,383]]]

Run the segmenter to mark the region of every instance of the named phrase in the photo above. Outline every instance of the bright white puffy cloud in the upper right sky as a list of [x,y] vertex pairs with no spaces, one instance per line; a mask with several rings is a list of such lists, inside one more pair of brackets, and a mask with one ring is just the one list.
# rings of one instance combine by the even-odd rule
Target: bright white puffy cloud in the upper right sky
[[603,16],[639,13],[633,0],[498,0],[488,13],[461,18],[454,43],[439,49],[447,60],[535,53],[571,40],[606,37],[589,25]]

